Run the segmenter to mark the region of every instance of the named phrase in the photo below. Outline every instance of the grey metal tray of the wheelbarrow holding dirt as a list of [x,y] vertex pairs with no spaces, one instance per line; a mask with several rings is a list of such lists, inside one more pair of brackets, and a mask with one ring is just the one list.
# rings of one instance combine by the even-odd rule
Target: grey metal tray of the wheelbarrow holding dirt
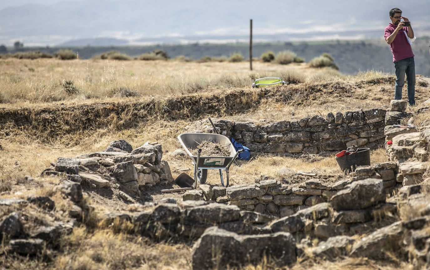
[[[197,164],[199,168],[225,168],[230,161],[236,155],[236,149],[234,149],[231,141],[221,134],[215,133],[182,133],[178,136],[178,140],[184,147],[185,152],[191,157],[193,162]],[[200,143],[204,141],[210,141],[212,143],[228,145],[230,156],[218,157],[218,156],[200,156],[199,162],[197,162],[197,156],[191,154],[190,150],[198,149]]]

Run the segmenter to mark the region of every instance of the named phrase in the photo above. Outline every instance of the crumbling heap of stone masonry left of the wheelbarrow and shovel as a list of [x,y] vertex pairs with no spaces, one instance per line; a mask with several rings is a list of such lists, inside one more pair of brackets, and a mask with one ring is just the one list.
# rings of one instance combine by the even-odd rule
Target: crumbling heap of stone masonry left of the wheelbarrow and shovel
[[42,174],[61,175],[72,182],[140,195],[140,189],[173,180],[169,164],[161,160],[162,155],[160,144],[133,150],[125,140],[119,140],[111,142],[103,152],[57,158],[55,165]]

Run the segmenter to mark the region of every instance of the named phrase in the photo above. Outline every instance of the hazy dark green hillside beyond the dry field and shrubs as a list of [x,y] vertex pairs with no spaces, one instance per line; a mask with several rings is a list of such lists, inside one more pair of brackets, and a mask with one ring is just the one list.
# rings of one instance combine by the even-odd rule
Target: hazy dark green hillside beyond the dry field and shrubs
[[[428,48],[429,37],[418,37],[414,42],[413,51],[415,53],[416,74],[430,77],[430,55]],[[200,59],[203,56],[229,57],[233,53],[241,53],[245,58],[249,58],[248,43],[230,44],[201,44],[194,43],[188,45],[153,45],[153,46],[109,46],[109,47],[24,47],[19,51],[40,51],[55,53],[62,48],[69,48],[78,53],[81,59],[89,59],[112,50],[118,50],[129,56],[139,56],[142,53],[152,52],[155,49],[166,51],[170,58],[185,56],[191,59]],[[9,53],[16,50],[9,48]],[[314,57],[322,53],[329,53],[335,58],[340,71],[344,74],[357,74],[359,71],[375,70],[387,73],[394,73],[393,56],[390,47],[384,40],[338,40],[319,42],[275,42],[275,43],[254,43],[253,58],[259,59],[266,51],[278,53],[283,50],[291,50],[298,56],[309,62]]]

